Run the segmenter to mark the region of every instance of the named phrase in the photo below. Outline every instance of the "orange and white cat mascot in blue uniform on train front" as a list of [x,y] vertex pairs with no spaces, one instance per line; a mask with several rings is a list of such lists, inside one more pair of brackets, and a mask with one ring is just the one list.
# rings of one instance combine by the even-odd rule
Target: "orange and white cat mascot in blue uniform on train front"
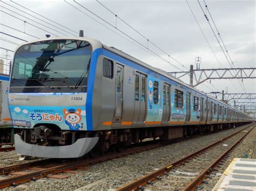
[[75,109],[63,109],[64,113],[64,119],[65,119],[65,124],[69,126],[69,130],[81,130],[84,126],[82,123],[81,126],[78,124],[81,119],[81,109],[78,108],[77,110]]

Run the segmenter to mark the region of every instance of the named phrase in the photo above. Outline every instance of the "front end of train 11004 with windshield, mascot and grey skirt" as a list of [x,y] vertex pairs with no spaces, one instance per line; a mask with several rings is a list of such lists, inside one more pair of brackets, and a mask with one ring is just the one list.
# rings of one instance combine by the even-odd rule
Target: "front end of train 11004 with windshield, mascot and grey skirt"
[[16,152],[47,158],[77,158],[98,142],[88,101],[93,45],[85,38],[48,38],[16,49],[9,109]]

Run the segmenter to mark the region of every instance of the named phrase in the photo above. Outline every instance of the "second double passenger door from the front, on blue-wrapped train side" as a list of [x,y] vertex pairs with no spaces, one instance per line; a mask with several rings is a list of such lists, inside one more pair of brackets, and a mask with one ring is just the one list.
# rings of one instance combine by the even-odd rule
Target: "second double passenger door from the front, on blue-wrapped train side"
[[171,114],[171,104],[170,104],[170,85],[164,83],[163,87],[163,117],[162,117],[162,124],[169,124],[170,114]]

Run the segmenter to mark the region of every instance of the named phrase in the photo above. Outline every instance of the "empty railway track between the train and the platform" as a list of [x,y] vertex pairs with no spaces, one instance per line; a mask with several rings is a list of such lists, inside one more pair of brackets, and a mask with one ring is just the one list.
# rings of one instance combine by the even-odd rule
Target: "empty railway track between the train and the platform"
[[[254,127],[255,124],[246,126],[246,128],[230,136],[220,139],[182,159],[174,161],[172,164],[166,165],[157,171],[142,176],[117,190],[143,189],[143,186],[147,184],[152,185],[152,187],[149,187],[150,189],[192,190],[203,181],[215,166],[220,164],[221,160],[225,158],[228,152],[230,152],[242,138],[248,135]],[[247,128],[249,129],[248,131],[246,131]]]

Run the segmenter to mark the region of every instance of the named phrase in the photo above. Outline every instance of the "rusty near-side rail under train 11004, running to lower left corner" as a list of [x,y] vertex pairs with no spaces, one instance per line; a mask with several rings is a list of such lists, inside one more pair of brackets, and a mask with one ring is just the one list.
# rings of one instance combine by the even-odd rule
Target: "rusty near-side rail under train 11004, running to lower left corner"
[[114,158],[120,158],[122,156],[133,154],[136,152],[150,150],[150,149],[156,148],[158,146],[161,146],[161,144],[157,143],[157,144],[153,144],[153,145],[147,145],[144,147],[133,148],[133,149],[126,150],[126,151],[123,151],[120,153],[107,154],[102,157],[97,157],[95,159],[89,159],[89,160],[86,159],[86,160],[81,160],[81,161],[78,160],[75,162],[70,162],[69,164],[57,165],[55,167],[50,167],[50,168],[43,169],[40,171],[31,172],[31,173],[24,174],[24,175],[18,175],[18,176],[14,176],[11,178],[6,178],[3,180],[0,180],[0,188],[5,188],[5,187],[11,186],[11,185],[17,185],[18,183],[27,182],[30,180],[36,180],[36,179],[48,176],[50,174],[57,174],[57,173],[69,171],[71,169],[75,169],[78,167],[89,166],[91,164],[96,164],[96,163],[111,160]]

